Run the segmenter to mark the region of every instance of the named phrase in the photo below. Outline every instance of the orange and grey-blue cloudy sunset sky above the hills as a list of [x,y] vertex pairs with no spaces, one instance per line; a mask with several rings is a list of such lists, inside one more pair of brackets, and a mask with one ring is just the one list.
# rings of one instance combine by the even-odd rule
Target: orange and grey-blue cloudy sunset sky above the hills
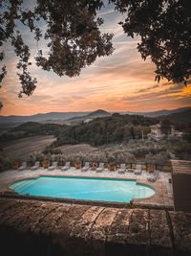
[[[191,85],[155,82],[155,66],[149,59],[142,60],[137,50],[138,40],[124,35],[117,23],[124,20],[112,5],[98,15],[105,22],[101,31],[114,33],[115,52],[110,57],[97,58],[90,67],[75,78],[58,77],[45,72],[32,61],[31,73],[37,88],[30,97],[18,98],[20,84],[16,75],[17,58],[10,45],[6,45],[8,75],[2,82],[1,115],[32,115],[46,112],[91,111],[154,111],[191,105]],[[36,42],[29,31],[23,31],[31,46],[32,57],[37,53]],[[45,45],[39,43],[39,49]]]

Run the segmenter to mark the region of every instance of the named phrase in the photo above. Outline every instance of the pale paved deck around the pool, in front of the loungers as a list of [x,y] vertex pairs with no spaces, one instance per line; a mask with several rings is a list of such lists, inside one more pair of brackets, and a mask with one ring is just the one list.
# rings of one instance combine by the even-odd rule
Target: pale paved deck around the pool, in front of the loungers
[[147,181],[149,175],[145,171],[141,175],[135,175],[134,173],[118,174],[117,171],[109,171],[105,169],[102,173],[96,173],[96,171],[88,170],[82,172],[80,169],[70,168],[68,171],[61,171],[55,169],[48,171],[47,169],[38,169],[36,171],[31,170],[9,170],[0,174],[0,193],[5,194],[9,192],[9,185],[19,179],[37,177],[39,175],[53,175],[53,176],[79,176],[79,177],[108,177],[108,178],[121,178],[121,179],[136,179],[138,183],[148,185],[155,189],[156,194],[151,198],[137,198],[133,202],[137,205],[150,205],[159,207],[174,207],[172,184],[169,183],[171,178],[170,173],[159,173],[159,179],[155,182]]

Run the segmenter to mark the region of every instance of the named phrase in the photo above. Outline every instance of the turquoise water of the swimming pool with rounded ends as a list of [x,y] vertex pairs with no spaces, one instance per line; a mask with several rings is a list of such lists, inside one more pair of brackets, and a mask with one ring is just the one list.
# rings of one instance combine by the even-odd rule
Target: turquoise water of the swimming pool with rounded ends
[[155,194],[154,189],[137,184],[136,180],[85,177],[40,176],[17,181],[10,188],[19,195],[118,202]]

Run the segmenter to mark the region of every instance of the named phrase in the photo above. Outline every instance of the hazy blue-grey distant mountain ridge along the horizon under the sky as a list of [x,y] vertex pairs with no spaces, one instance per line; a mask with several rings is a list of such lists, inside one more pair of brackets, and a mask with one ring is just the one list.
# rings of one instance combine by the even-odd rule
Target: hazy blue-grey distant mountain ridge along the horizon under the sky
[[[160,117],[160,116],[166,116],[170,114],[181,113],[184,111],[187,111],[189,115],[189,110],[191,110],[191,106],[180,107],[172,110],[162,109],[162,110],[153,111],[153,112],[124,111],[119,113],[130,114],[130,115],[138,114],[146,117]],[[97,117],[110,116],[113,113],[114,112],[107,112],[102,109],[97,109],[96,111],[87,111],[87,112],[50,112],[45,114],[39,113],[31,116],[15,116],[15,115],[0,116],[0,129],[13,128],[26,122],[48,122],[49,121],[49,123],[54,123],[55,121],[69,121],[70,124],[75,125],[82,121],[84,122],[91,121],[92,119],[95,119]],[[176,117],[173,117],[173,119],[176,119]]]

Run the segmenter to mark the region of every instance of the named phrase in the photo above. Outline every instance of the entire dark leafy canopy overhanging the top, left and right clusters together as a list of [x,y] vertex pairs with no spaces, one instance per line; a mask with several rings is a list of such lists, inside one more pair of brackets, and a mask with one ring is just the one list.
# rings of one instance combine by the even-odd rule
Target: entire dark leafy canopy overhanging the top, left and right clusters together
[[[191,1],[187,0],[107,0],[116,10],[126,13],[120,22],[128,36],[140,36],[138,51],[156,64],[156,81],[184,81],[191,74]],[[38,49],[36,65],[58,76],[74,77],[97,57],[113,53],[113,34],[101,34],[104,22],[96,13],[104,6],[102,0],[36,0],[28,9],[23,0],[0,0],[0,47],[8,41],[18,57],[16,68],[22,94],[31,95],[36,79],[29,71],[30,47],[23,39],[19,23],[27,26],[38,42],[47,42],[48,55]],[[46,24],[43,33],[42,24]],[[6,53],[0,52],[2,63]],[[1,67],[0,82],[7,75]]]

